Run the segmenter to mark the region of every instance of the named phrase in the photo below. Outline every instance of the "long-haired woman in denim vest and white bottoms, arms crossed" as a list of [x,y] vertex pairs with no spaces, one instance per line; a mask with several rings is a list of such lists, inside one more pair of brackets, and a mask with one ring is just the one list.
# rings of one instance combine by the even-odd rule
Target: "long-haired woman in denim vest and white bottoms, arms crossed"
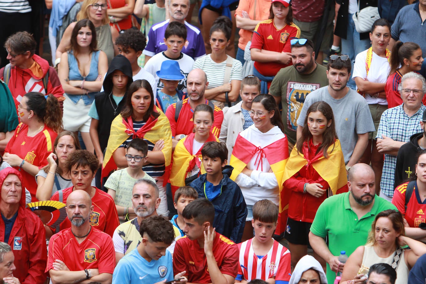
[[79,20],[72,29],[71,43],[61,55],[58,74],[67,100],[63,103],[64,129],[81,132],[84,145],[93,152],[90,139],[90,106],[101,91],[102,75],[107,72],[107,55],[97,49],[95,26]]

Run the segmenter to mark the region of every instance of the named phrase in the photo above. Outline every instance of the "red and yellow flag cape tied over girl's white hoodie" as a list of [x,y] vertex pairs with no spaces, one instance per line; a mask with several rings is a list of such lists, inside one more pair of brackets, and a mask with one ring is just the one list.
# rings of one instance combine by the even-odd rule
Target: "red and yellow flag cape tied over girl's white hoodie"
[[[254,127],[254,126],[252,125],[250,127]],[[283,138],[280,138],[272,142],[268,146],[265,146],[263,148],[257,147],[243,137],[243,136],[248,137],[246,136],[248,131],[253,132],[253,130],[250,129],[250,127],[244,130],[243,132],[241,132],[235,141],[235,144],[234,144],[235,146],[232,151],[232,155],[231,155],[231,159],[229,163],[231,166],[234,167],[230,178],[233,181],[235,181],[236,177],[242,172],[242,170],[245,168],[245,166],[248,165],[248,163],[254,156],[256,156],[256,160],[259,159],[259,164],[257,164],[257,161],[255,163],[257,164],[257,169],[259,169],[259,166],[260,166],[260,169],[262,170],[262,158],[266,158],[271,166],[271,169],[276,177],[276,180],[278,181],[279,192],[281,192],[282,176],[284,175],[285,164],[287,163],[287,160],[288,160],[287,137],[283,135],[284,136]],[[253,135],[249,135],[249,136],[256,139],[256,133],[253,133]],[[288,206],[287,208],[284,208],[282,206],[282,202],[280,199],[279,201],[280,217],[279,218],[285,218],[285,222],[286,222],[287,214],[285,213],[285,217],[281,215],[281,213],[284,210],[288,210]],[[276,232],[281,232],[282,229],[285,229],[285,226],[284,228],[277,227]]]

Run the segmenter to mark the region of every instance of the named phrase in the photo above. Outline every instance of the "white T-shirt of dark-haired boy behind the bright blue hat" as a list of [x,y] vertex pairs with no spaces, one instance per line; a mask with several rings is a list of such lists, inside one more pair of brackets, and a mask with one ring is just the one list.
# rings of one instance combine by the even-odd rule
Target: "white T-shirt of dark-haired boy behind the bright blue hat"
[[[157,76],[157,71],[160,71],[161,69],[161,63],[165,60],[176,60],[179,63],[179,68],[181,69],[181,73],[185,76],[182,80],[178,83],[178,90],[181,90],[182,92],[187,92],[186,88],[186,81],[188,77],[188,73],[192,70],[192,66],[194,64],[194,60],[181,52],[181,56],[178,59],[172,59],[164,55],[164,52],[157,53],[153,57],[148,60],[148,62],[145,64],[144,69],[151,73],[151,75],[155,78],[155,86],[157,86],[158,90],[163,89],[164,84],[161,83],[160,78]],[[156,91],[154,90],[154,93]]]

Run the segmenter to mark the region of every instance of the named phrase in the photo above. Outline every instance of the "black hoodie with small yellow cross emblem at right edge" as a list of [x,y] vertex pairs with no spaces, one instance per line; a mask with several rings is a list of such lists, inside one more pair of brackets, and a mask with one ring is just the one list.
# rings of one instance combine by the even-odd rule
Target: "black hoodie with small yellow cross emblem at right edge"
[[397,164],[395,166],[394,188],[406,182],[415,175],[417,164],[417,153],[422,150],[419,146],[419,139],[423,137],[423,132],[411,135],[410,141],[405,143],[398,150]]

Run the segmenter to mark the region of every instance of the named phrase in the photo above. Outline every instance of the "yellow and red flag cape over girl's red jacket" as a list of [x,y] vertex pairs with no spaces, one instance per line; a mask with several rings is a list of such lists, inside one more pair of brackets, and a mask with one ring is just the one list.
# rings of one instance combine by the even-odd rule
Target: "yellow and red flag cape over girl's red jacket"
[[[306,148],[306,151],[303,152],[308,153],[308,143],[303,143],[303,148]],[[346,177],[345,159],[343,158],[342,147],[338,139],[334,141],[334,145],[328,147],[327,154],[328,157],[325,158],[321,151],[312,160],[308,160],[308,157],[304,153],[299,153],[297,147],[294,146],[290,158],[288,158],[288,163],[285,166],[282,183],[299,172],[302,167],[312,165],[318,174],[328,182],[333,195],[337,191],[347,192],[348,179]],[[281,195],[281,200],[287,201],[288,204],[289,190],[284,189]]]

